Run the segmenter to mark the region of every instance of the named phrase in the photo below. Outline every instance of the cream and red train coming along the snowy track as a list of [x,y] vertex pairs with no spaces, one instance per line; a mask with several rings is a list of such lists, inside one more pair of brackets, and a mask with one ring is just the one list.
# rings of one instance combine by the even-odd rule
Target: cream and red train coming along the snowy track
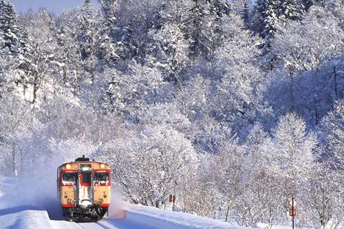
[[98,221],[109,214],[110,167],[78,157],[57,168],[57,193],[67,221]]

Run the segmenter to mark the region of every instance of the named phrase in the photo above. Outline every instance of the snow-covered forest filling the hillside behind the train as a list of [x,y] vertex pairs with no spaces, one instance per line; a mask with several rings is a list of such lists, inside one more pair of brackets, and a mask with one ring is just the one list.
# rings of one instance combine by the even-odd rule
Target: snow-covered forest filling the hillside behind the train
[[[341,0],[0,1],[0,175],[85,154],[134,204],[255,227],[344,220]],[[46,172],[44,172],[47,174]],[[52,178],[53,180],[55,179]]]

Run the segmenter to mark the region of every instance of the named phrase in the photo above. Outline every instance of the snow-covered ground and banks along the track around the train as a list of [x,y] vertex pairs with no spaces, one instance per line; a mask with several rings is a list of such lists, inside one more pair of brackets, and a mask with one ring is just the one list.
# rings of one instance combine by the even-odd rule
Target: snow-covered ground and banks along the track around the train
[[[23,186],[23,184],[21,184]],[[58,201],[46,195],[50,188],[30,184],[25,191],[17,180],[0,177],[0,228],[117,228],[117,229],[239,229],[221,221],[201,218],[182,212],[171,212],[146,206],[125,204],[123,211],[111,208],[107,220],[97,223],[65,221]],[[40,190],[40,191],[39,191]],[[45,192],[42,192],[44,191]],[[35,193],[40,193],[39,195]],[[45,193],[45,194],[42,194]],[[122,215],[124,214],[124,215]],[[122,218],[123,217],[123,218]],[[122,218],[122,219],[119,219]]]

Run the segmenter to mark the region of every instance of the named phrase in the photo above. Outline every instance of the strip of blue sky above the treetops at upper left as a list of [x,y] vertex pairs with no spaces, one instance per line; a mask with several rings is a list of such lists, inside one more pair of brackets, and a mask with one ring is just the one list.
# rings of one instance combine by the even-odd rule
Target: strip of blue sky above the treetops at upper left
[[[26,12],[30,8],[37,11],[41,6],[49,11],[60,13],[64,9],[79,6],[84,0],[10,0],[14,8],[20,12]],[[93,0],[96,3],[96,0]]]

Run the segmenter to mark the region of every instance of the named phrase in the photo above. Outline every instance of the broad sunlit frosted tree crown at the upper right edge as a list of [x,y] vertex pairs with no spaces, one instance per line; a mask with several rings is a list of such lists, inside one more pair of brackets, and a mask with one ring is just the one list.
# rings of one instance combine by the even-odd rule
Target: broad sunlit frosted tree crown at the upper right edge
[[291,71],[319,70],[343,51],[340,21],[313,6],[303,21],[281,28],[271,46]]

